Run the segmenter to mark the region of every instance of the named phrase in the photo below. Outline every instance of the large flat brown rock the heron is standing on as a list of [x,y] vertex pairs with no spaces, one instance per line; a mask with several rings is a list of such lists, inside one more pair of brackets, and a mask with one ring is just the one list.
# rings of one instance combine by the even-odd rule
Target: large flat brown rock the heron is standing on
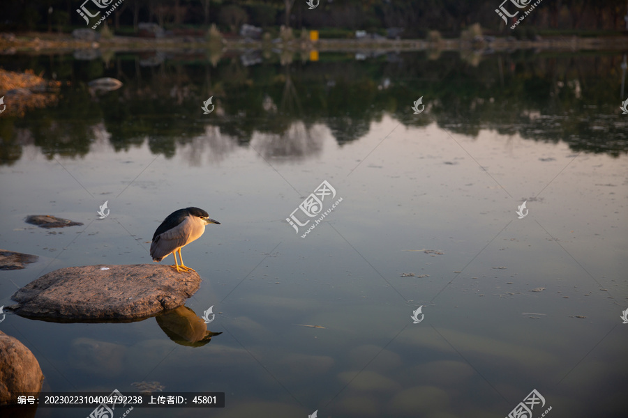
[[196,272],[167,265],[61,268],[15,292],[11,298],[18,303],[6,309],[55,322],[133,322],[180,307],[200,280]]

